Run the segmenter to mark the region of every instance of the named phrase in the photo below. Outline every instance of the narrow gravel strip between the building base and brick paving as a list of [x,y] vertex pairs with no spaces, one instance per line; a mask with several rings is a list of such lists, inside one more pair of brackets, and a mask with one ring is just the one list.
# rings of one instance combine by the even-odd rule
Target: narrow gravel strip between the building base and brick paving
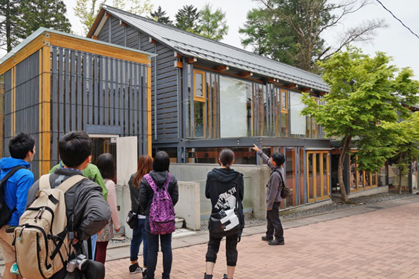
[[[369,195],[369,196],[364,196],[364,197],[353,197],[349,199],[350,202],[348,204],[345,204],[344,202],[342,202],[340,197],[332,197],[332,204],[325,204],[323,206],[318,206],[316,209],[309,209],[306,211],[300,211],[300,212],[294,212],[294,213],[287,213],[285,211],[284,213],[281,213],[281,220],[312,216],[315,214],[326,213],[326,212],[335,211],[338,209],[347,209],[349,207],[361,206],[364,204],[375,204],[376,202],[385,202],[392,199],[403,199],[405,197],[413,197],[415,195],[416,194],[411,194],[411,193],[402,193],[402,195],[399,195],[397,193],[382,193],[382,194]],[[246,227],[253,227],[257,225],[263,225],[266,223],[266,220],[254,219],[251,217],[252,217],[251,215],[245,214]],[[205,222],[204,224],[205,225],[201,225],[201,231],[208,230],[207,222]],[[129,241],[131,241],[131,239],[123,237],[118,240],[112,239],[110,241],[110,244],[124,243],[124,242],[129,242]]]

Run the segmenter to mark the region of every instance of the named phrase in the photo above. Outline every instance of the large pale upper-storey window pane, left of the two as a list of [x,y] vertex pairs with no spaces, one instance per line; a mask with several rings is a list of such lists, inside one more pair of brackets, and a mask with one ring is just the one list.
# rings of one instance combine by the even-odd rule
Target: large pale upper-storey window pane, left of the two
[[221,137],[247,137],[251,84],[230,77],[220,77]]

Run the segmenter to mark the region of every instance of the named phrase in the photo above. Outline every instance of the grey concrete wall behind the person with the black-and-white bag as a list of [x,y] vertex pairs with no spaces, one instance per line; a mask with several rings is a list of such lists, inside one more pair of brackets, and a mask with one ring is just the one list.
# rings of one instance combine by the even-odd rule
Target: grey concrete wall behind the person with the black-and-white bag
[[[207,173],[219,165],[213,164],[171,164],[170,172],[177,181],[200,181],[200,188],[205,187],[203,181],[207,180]],[[253,216],[263,219],[266,217],[266,183],[270,177],[271,170],[267,166],[255,165],[234,165],[237,172],[244,175],[245,180],[250,181],[250,186],[245,187],[245,199],[250,199],[253,208]],[[200,189],[201,195],[203,193]],[[203,199],[205,197],[200,197]],[[247,206],[248,207],[248,206]]]

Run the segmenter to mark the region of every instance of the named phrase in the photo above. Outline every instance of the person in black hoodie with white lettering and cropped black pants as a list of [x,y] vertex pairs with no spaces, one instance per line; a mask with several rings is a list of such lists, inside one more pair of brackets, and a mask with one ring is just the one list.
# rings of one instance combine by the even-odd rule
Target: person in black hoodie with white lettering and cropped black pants
[[[219,213],[235,208],[237,206],[237,216],[239,219],[239,229],[236,234],[226,236],[226,258],[227,274],[223,279],[233,279],[235,266],[237,264],[237,243],[240,241],[242,229],[244,227],[244,215],[242,200],[244,197],[243,174],[231,169],[234,163],[234,153],[230,149],[224,149],[219,156],[221,168],[212,169],[207,175],[207,186],[205,196],[211,199],[212,213]],[[238,200],[237,200],[238,199]],[[227,224],[228,225],[228,224]],[[234,225],[234,224],[233,224]],[[210,241],[206,255],[206,272],[204,279],[212,279],[212,271],[216,262],[216,255],[219,252],[221,239],[223,237],[212,234],[210,227]]]

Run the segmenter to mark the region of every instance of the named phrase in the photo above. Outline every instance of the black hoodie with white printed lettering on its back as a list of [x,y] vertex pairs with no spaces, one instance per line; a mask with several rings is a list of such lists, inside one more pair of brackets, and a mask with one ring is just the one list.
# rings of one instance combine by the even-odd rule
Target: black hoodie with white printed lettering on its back
[[[236,190],[237,189],[237,190]],[[238,215],[240,225],[244,227],[244,215],[242,200],[244,197],[243,174],[230,169],[228,172],[224,168],[212,169],[207,175],[207,185],[205,186],[205,197],[211,199],[212,213],[218,213],[222,209],[233,209],[237,202],[231,204],[230,197],[238,199]]]

